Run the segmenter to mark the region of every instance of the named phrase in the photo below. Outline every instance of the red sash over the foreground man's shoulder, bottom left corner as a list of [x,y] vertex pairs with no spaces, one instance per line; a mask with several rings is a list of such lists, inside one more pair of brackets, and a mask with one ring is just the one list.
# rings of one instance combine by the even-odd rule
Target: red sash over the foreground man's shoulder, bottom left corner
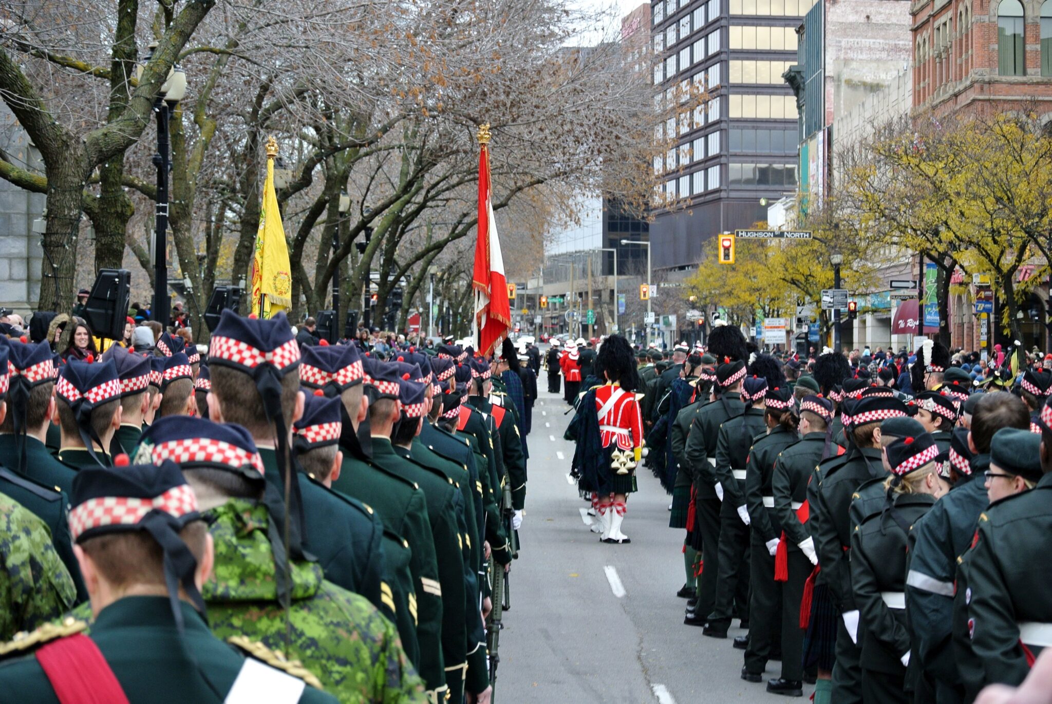
[[83,633],[44,645],[37,662],[61,704],[128,704],[99,646]]

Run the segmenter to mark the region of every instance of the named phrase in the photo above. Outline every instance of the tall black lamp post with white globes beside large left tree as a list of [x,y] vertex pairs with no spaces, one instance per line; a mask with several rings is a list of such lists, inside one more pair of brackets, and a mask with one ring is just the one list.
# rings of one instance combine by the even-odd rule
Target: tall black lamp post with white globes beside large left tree
[[[143,60],[136,65],[136,79],[142,79],[145,64],[154,57],[157,42],[150,42],[149,51]],[[186,95],[186,74],[178,65],[168,72],[168,78],[154,100],[154,113],[157,115],[157,153],[154,155],[154,165],[157,167],[157,205],[154,215],[154,320],[162,325],[168,324],[168,169],[171,168],[169,158],[168,117],[179,101]]]

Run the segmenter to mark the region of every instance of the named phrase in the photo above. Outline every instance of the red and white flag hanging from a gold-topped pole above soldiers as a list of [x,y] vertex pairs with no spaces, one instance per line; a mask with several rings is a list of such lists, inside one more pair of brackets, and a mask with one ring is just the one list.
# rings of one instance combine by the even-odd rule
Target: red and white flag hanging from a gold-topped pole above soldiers
[[479,238],[474,244],[474,338],[478,353],[489,355],[511,326],[511,308],[508,304],[508,282],[504,277],[504,259],[501,240],[497,236],[493,218],[492,192],[489,182],[489,150],[485,137],[480,134],[482,149],[479,153]]

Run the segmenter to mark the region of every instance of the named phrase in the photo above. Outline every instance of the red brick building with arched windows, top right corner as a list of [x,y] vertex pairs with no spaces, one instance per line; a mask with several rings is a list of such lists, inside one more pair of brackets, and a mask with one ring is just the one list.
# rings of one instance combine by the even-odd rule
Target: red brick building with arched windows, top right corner
[[1052,112],[1052,0],[916,0],[913,114]]

